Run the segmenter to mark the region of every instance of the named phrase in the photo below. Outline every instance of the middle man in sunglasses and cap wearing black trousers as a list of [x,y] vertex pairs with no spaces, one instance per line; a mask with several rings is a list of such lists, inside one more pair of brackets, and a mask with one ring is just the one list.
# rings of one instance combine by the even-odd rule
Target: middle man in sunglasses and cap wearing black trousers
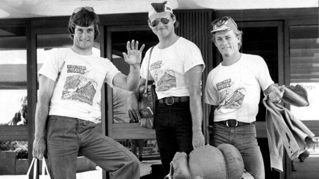
[[[169,2],[152,3],[148,17],[149,27],[160,42],[145,54],[140,85],[145,84],[149,67],[159,99],[154,119],[156,137],[164,172],[168,174],[176,152],[189,154],[205,144],[200,88],[205,65],[199,48],[175,34],[174,24],[178,22]],[[130,118],[140,119],[136,95],[131,95],[129,104]]]

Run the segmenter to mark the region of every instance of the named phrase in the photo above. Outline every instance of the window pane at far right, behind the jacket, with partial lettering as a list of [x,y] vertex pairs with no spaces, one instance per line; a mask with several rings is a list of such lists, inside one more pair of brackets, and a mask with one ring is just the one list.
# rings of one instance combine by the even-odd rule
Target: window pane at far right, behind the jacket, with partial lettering
[[308,92],[308,107],[291,106],[301,120],[319,120],[319,30],[318,25],[290,27],[291,85],[301,85]]

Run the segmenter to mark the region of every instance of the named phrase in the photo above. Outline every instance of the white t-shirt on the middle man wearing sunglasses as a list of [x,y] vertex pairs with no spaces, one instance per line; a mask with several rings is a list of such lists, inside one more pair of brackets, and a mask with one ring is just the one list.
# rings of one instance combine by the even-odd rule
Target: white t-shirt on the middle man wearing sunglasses
[[[150,49],[141,66],[141,77],[146,79]],[[173,45],[160,49],[156,45],[150,61],[149,80],[154,79],[158,98],[167,96],[189,96],[185,73],[192,67],[205,64],[199,48],[180,37]]]

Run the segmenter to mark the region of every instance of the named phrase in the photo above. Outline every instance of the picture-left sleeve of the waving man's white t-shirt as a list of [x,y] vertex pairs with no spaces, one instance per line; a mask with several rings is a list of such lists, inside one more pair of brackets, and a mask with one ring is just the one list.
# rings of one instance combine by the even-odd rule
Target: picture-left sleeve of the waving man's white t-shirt
[[64,55],[64,53],[51,53],[50,55],[47,55],[45,59],[43,59],[43,65],[38,71],[38,76],[44,75],[55,81],[59,68],[62,67],[62,63],[64,61],[62,57]]

